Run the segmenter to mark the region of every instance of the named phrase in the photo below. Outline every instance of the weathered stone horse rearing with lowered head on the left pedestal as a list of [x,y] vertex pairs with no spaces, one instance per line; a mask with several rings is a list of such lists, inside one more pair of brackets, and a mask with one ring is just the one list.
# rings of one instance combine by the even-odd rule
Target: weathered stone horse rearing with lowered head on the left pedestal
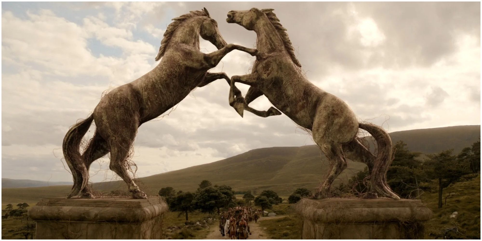
[[[256,55],[257,50],[226,44],[217,23],[204,8],[191,11],[173,19],[164,33],[156,61],[161,63],[133,82],[122,85],[106,94],[85,120],[72,126],[63,142],[65,160],[72,172],[74,185],[67,198],[81,192],[83,198],[94,198],[87,183],[89,167],[93,161],[110,152],[110,170],[128,185],[134,199],[146,199],[127,172],[126,158],[133,145],[137,128],[152,120],[183,100],[193,89],[217,79],[229,78],[225,73],[208,73],[232,50]],[[217,47],[217,51],[203,54],[199,35]],[[239,90],[235,90],[241,94]],[[267,117],[281,113],[255,111]],[[85,151],[80,154],[80,142],[94,120],[96,130]]]

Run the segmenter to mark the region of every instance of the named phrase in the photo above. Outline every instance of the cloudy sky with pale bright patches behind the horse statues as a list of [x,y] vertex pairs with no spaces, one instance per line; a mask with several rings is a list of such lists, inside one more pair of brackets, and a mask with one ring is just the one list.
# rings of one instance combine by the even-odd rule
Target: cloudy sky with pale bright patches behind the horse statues
[[[61,149],[69,126],[89,116],[104,91],[155,67],[171,19],[202,7],[228,43],[246,47],[254,47],[255,33],[226,23],[228,11],[275,9],[308,80],[360,120],[389,132],[480,124],[479,2],[2,2],[2,177],[70,181]],[[201,41],[202,52],[214,50]],[[253,61],[233,51],[210,71],[247,74]],[[198,88],[169,116],[143,124],[136,175],[313,144],[285,115],[241,118],[228,89],[224,80]],[[271,104],[260,97],[252,106]],[[112,177],[107,161],[94,162],[91,180]]]

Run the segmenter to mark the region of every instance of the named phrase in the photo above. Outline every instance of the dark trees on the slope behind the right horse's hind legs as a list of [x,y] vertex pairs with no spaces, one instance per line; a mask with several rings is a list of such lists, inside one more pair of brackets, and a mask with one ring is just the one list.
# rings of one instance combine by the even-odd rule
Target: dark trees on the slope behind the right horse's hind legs
[[[402,198],[417,198],[420,191],[429,190],[428,184],[436,181],[439,208],[442,208],[443,188],[480,172],[480,140],[472,147],[464,148],[458,155],[453,154],[453,149],[444,150],[427,155],[423,161],[419,160],[421,153],[412,152],[406,146],[403,141],[394,145],[394,159],[387,172],[388,185]],[[370,187],[367,176],[368,170],[365,169],[340,189],[361,195]]]

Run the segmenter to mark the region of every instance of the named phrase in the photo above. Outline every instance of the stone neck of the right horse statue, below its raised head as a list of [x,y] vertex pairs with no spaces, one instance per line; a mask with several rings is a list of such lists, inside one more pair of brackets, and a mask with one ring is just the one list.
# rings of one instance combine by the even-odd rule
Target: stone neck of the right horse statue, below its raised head
[[254,32],[257,50],[267,54],[285,51],[283,40],[267,16],[256,22]]

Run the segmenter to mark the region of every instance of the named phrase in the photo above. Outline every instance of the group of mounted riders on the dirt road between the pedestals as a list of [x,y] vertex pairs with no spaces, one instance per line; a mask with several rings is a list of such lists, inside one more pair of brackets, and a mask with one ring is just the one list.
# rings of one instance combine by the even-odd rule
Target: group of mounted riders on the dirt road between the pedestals
[[252,209],[251,207],[234,207],[229,208],[227,212],[223,212],[219,217],[219,231],[226,239],[248,239],[251,235],[249,222],[257,222],[259,219],[260,209]]

